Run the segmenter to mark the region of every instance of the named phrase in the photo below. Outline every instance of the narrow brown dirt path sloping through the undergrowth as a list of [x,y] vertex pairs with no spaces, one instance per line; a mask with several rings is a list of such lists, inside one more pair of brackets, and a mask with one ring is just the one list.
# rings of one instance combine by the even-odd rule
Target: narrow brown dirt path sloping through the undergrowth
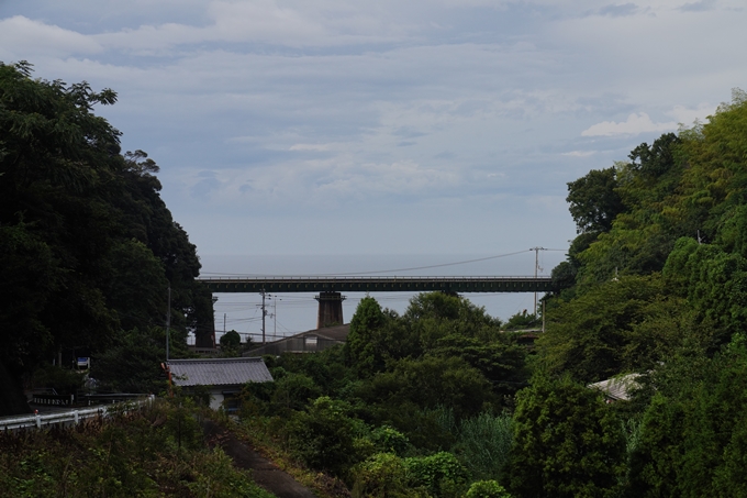
[[260,456],[246,443],[238,441],[216,423],[205,420],[203,430],[211,446],[221,446],[225,454],[233,458],[234,465],[252,471],[255,483],[278,498],[316,497],[291,476],[276,467],[272,462]]

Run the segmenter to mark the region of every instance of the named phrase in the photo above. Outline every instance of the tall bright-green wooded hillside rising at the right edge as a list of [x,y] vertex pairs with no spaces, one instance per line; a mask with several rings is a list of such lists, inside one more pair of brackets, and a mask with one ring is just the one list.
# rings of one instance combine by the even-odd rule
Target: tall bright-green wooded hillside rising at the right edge
[[746,187],[740,90],[707,122],[568,184],[579,236],[554,272],[537,366],[553,381],[639,374],[612,406],[627,451],[607,461],[625,475],[587,496],[744,496]]

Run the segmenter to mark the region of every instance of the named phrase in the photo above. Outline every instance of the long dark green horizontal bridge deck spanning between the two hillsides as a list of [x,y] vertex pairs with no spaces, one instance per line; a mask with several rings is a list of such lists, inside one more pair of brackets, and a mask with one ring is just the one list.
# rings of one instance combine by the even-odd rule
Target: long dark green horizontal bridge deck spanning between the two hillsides
[[547,292],[550,277],[220,277],[212,292]]

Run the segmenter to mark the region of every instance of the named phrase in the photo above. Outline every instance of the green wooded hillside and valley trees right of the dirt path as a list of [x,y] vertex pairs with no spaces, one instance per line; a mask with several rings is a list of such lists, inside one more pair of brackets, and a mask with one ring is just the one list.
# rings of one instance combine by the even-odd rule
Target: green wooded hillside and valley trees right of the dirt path
[[[747,496],[747,98],[568,185],[527,348],[468,300],[364,299],[344,348],[268,358],[257,441],[356,497]],[[591,383],[617,378],[628,400]]]

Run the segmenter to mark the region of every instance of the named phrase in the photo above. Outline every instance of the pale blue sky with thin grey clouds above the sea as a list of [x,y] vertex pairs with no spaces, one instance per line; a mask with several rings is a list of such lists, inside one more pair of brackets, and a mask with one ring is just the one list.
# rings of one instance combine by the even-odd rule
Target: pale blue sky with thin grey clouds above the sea
[[567,182],[747,88],[746,9],[0,0],[0,60],[118,92],[96,112],[160,166],[205,273],[230,255],[456,262],[567,248]]

